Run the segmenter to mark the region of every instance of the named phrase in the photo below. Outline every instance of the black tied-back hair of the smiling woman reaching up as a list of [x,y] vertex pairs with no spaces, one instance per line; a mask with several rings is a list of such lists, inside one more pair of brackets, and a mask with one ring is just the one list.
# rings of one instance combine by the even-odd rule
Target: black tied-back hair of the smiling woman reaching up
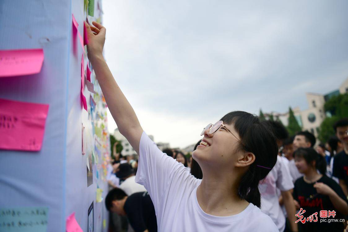
[[277,162],[276,137],[267,121],[260,121],[258,116],[251,113],[233,111],[221,120],[224,124],[234,125],[241,141],[238,149],[255,155],[255,161],[240,179],[238,194],[240,198],[260,208],[261,196],[258,185]]

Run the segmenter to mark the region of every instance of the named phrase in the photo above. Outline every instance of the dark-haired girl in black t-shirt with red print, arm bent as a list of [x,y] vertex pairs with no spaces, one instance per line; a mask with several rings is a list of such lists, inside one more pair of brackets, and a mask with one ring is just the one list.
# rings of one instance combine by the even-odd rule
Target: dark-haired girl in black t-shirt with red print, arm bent
[[[333,217],[323,218],[320,211],[335,211],[335,219],[344,219],[348,214],[348,204],[341,187],[331,178],[325,175],[326,161],[312,148],[299,148],[294,152],[295,164],[300,173],[304,174],[295,182],[293,196],[298,201],[300,215],[307,219],[310,215],[317,213],[313,219],[317,222],[299,221],[299,231],[343,231],[342,222],[321,222],[321,219],[333,219]],[[318,171],[321,173],[319,174]],[[302,216],[298,216],[298,219]],[[296,215],[297,216],[297,215]],[[324,216],[324,215],[323,215]],[[303,219],[302,218],[302,219]]]

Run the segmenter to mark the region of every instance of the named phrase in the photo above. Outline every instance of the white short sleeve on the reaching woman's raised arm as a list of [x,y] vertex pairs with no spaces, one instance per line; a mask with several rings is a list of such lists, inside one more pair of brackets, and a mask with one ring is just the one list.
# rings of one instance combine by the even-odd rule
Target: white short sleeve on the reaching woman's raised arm
[[171,182],[172,174],[184,166],[158,149],[143,132],[139,144],[139,161],[135,182],[144,185],[158,211],[161,197]]

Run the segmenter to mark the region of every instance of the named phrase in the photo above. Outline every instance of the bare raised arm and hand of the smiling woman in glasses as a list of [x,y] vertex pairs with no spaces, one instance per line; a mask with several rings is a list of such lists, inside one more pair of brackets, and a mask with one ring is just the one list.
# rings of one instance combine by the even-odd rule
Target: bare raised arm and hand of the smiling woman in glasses
[[106,29],[101,24],[93,22],[95,26],[89,26],[86,22],[88,45],[87,56],[93,65],[96,78],[102,89],[106,104],[117,127],[122,135],[129,141],[130,145],[139,154],[139,143],[143,133],[139,120],[132,106],[118,87],[108,65],[103,57]]

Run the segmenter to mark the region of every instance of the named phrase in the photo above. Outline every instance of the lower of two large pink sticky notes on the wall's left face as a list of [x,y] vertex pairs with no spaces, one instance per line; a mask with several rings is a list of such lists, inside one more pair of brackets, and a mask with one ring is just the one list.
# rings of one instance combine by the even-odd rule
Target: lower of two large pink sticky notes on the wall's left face
[[0,99],[0,149],[40,151],[48,105]]

